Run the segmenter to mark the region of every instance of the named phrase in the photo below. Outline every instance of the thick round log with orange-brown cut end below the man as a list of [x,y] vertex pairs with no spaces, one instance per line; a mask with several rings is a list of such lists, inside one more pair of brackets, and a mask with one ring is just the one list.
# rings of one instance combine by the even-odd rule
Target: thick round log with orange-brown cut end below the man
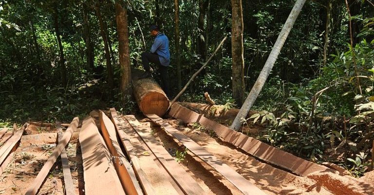
[[164,116],[170,102],[156,81],[151,78],[134,79],[132,86],[136,102],[144,115]]

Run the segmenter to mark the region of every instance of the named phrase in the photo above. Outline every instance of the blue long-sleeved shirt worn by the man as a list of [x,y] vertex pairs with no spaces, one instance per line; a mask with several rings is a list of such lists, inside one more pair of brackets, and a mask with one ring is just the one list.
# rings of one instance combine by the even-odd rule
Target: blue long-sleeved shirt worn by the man
[[150,52],[158,55],[161,65],[168,66],[170,64],[169,39],[164,33],[157,33]]

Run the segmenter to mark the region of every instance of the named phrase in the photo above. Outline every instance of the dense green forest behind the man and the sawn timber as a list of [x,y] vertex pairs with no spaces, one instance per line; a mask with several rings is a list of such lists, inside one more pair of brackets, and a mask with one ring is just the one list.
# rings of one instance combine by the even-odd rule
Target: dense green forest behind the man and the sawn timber
[[[232,3],[238,2],[239,73],[231,39],[238,28]],[[228,36],[182,99],[205,102],[208,92],[219,104],[240,106],[295,2],[0,0],[0,124],[70,121],[108,107],[135,112],[123,80],[130,68],[141,68],[152,23],[170,40],[173,97]],[[252,107],[259,113],[244,125],[262,125],[256,137],[271,145],[361,176],[374,138],[373,44],[373,0],[306,1]],[[232,84],[240,74],[243,83]]]

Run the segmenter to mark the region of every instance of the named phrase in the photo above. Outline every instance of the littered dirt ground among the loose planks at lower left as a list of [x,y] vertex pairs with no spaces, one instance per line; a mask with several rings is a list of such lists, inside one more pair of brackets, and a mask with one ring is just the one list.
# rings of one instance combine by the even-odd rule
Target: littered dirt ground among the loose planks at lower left
[[[54,133],[56,129],[51,127],[30,126],[26,134]],[[0,177],[0,194],[24,195],[47,161],[56,144],[23,144],[14,153],[14,160],[8,165]],[[83,181],[82,158],[80,146],[76,137],[72,137],[66,149],[70,170],[72,173],[76,194],[82,194]],[[78,188],[78,186],[80,188]],[[80,189],[80,190],[79,190]],[[80,191],[80,192],[79,192]],[[58,157],[48,177],[41,186],[38,195],[64,195],[61,158]]]

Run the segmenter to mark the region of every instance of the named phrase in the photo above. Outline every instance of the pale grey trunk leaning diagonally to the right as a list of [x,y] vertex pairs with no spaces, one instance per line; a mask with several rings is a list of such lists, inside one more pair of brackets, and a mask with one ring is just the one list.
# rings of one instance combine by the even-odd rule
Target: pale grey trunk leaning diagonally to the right
[[262,90],[263,85],[267,77],[270,74],[271,69],[274,66],[275,61],[278,58],[279,53],[281,52],[281,48],[283,47],[284,42],[286,41],[288,34],[290,33],[292,26],[294,25],[296,19],[299,16],[301,8],[303,7],[306,0],[297,0],[294,8],[291,10],[290,15],[288,16],[286,22],[283,25],[281,33],[278,36],[277,41],[274,44],[273,49],[270,52],[269,57],[267,58],[265,65],[262,68],[259,78],[257,78],[256,83],[254,84],[252,90],[250,91],[248,97],[245,99],[245,102],[240,109],[238,115],[235,117],[232,125],[230,126],[231,129],[239,130],[242,124],[242,118],[245,118],[250,111],[253,103],[255,102],[256,98],[259,96],[260,91]]

